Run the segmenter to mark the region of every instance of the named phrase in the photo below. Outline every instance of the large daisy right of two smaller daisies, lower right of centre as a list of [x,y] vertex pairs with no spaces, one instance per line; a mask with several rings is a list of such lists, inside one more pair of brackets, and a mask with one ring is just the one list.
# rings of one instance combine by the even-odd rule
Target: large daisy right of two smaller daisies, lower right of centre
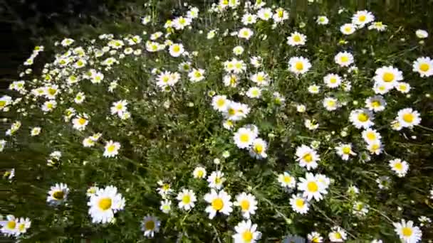
[[313,173],[306,173],[305,178],[299,178],[298,190],[303,191],[303,197],[307,198],[307,200],[314,198],[316,201],[322,200],[323,194],[328,193],[326,185],[320,183]]

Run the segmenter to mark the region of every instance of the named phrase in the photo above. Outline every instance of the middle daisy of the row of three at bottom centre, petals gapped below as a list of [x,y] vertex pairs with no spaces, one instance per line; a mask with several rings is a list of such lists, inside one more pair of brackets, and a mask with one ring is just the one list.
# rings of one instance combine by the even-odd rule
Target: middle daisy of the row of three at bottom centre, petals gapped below
[[210,193],[204,195],[204,200],[209,202],[209,206],[206,207],[206,212],[209,213],[209,219],[213,219],[216,215],[216,212],[221,212],[224,215],[230,215],[230,212],[233,211],[230,202],[231,196],[224,192],[224,190],[220,190],[219,193],[216,193],[216,190],[212,189]]

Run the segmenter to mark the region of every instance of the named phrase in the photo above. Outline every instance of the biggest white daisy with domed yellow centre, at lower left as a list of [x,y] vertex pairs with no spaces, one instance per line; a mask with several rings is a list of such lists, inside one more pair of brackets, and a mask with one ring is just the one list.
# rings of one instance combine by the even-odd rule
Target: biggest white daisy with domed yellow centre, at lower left
[[125,199],[118,193],[118,188],[108,185],[99,188],[88,202],[89,215],[93,223],[107,223],[113,220],[116,212],[123,210]]

